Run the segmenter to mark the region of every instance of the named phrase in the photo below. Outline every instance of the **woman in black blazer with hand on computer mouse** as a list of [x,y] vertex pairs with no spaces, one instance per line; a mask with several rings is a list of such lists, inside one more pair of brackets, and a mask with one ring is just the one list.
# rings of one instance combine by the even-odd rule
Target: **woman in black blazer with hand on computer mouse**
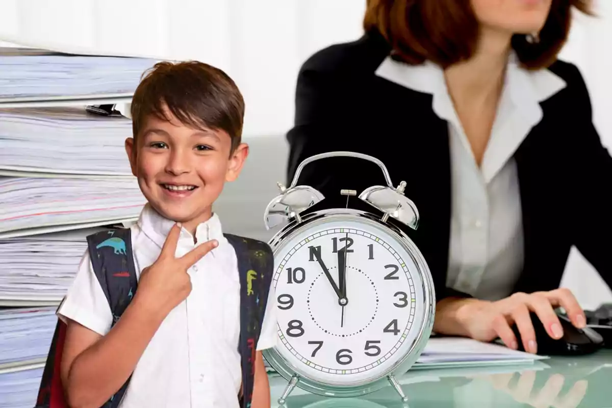
[[[373,155],[420,212],[406,229],[435,281],[434,331],[537,352],[529,312],[560,338],[554,308],[570,248],[612,284],[612,158],[577,67],[558,61],[588,0],[370,0],[365,35],[302,66],[288,178],[307,157]],[[383,184],[375,165],[327,158],[299,184],[344,207],[341,188]],[[359,200],[353,200],[356,206]],[[364,209],[368,209],[367,207]]]

